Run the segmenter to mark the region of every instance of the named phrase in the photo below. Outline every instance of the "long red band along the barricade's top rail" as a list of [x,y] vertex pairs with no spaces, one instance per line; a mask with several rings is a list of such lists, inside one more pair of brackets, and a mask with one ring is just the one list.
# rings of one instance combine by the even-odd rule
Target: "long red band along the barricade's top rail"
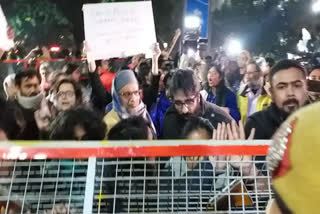
[[[267,155],[269,146],[267,145],[178,145],[178,146],[126,146],[126,147],[65,147],[63,149],[41,148],[41,144],[35,147],[18,147],[13,150],[10,147],[0,147],[1,159],[35,159],[45,157],[48,159],[70,159],[70,158],[121,158],[121,157],[172,157],[172,156],[211,156],[211,155]],[[149,159],[149,160],[152,160]]]

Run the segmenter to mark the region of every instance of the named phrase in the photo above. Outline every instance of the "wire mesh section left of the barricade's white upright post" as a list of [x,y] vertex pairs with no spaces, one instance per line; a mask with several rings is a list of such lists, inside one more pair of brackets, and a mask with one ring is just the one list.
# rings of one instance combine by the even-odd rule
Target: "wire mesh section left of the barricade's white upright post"
[[1,161],[1,213],[82,212],[87,161]]

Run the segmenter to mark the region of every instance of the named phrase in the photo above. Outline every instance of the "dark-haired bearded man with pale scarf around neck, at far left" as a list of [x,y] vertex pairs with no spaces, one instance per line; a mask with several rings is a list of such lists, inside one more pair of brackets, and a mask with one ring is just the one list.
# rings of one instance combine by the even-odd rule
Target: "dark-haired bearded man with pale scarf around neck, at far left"
[[21,140],[39,139],[39,130],[34,119],[34,112],[39,109],[43,99],[40,90],[41,76],[34,70],[18,72],[15,77],[17,88],[16,103],[22,111],[25,128],[21,133]]

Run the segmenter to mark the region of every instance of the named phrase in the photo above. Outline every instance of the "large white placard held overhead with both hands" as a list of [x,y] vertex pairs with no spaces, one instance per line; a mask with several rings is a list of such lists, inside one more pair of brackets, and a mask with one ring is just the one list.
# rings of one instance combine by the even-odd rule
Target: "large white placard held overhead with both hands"
[[156,42],[152,2],[83,5],[89,59],[151,54]]

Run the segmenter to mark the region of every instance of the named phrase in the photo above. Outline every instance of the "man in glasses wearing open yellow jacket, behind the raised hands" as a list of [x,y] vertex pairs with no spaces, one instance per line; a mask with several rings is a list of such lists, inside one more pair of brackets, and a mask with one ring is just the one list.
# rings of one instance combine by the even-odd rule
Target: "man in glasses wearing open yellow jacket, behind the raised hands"
[[271,98],[263,87],[263,73],[255,62],[247,65],[248,83],[238,94],[238,106],[242,122],[249,116],[267,108],[271,103]]

